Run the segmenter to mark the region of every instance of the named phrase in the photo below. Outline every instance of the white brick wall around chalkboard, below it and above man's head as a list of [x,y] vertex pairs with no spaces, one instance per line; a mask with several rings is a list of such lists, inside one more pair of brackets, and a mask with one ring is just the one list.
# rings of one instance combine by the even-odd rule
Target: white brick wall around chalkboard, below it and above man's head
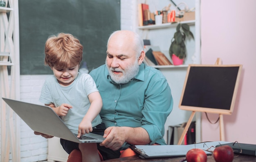
[[[136,0],[121,0],[121,29],[136,31],[137,20],[134,9],[137,9]],[[20,100],[35,104],[38,101],[41,87],[49,75],[21,75]],[[27,124],[20,123],[20,162],[37,162],[47,160],[47,139],[34,135]]]

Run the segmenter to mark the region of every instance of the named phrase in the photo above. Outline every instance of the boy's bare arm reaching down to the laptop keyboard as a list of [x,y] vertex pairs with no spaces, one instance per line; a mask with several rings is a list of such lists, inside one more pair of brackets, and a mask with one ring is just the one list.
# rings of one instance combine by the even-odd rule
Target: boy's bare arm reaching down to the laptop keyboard
[[101,107],[102,107],[102,99],[99,92],[92,92],[88,95],[88,98],[90,100],[90,107],[83,117],[83,120],[79,124],[78,127],[78,138],[85,134],[92,131],[92,120],[96,118],[96,116],[100,113]]

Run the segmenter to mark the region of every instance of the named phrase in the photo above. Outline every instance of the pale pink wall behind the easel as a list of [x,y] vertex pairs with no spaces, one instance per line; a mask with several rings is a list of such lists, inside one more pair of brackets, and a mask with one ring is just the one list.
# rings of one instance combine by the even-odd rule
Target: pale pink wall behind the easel
[[[256,1],[202,0],[202,64],[242,64],[232,115],[223,115],[225,141],[256,144]],[[217,114],[208,114],[215,122]],[[220,140],[219,124],[202,114],[202,141]]]

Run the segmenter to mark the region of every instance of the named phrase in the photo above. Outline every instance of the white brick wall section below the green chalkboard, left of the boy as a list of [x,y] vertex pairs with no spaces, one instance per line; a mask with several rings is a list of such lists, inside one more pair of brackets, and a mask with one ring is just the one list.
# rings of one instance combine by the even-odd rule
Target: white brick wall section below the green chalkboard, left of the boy
[[[38,101],[45,78],[49,75],[20,75],[20,100],[35,104]],[[34,135],[29,126],[20,122],[20,162],[47,160],[47,139]]]

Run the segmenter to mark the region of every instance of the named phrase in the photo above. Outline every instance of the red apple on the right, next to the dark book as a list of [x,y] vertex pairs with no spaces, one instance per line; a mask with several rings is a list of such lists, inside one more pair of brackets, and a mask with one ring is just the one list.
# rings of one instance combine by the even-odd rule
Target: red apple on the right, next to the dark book
[[234,151],[228,145],[219,146],[214,149],[213,157],[216,162],[232,162]]

